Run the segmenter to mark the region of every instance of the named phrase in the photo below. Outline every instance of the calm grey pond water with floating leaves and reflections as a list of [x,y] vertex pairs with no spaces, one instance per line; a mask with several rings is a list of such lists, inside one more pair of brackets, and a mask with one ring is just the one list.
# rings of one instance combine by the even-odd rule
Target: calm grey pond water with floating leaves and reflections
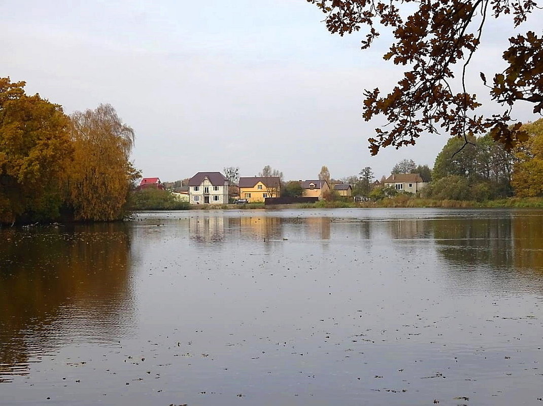
[[543,211],[171,212],[0,243],[1,405],[543,405]]

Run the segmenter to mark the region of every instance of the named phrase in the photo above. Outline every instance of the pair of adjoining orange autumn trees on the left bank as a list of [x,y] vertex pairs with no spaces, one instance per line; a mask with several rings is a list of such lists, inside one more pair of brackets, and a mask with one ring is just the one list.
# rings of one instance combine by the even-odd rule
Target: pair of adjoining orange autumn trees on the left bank
[[134,130],[111,105],[67,115],[25,85],[0,78],[0,224],[122,218]]

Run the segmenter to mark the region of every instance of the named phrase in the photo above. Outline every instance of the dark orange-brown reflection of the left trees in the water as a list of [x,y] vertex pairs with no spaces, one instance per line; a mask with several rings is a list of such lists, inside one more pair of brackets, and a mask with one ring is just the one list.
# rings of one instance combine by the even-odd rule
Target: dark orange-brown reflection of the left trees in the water
[[0,374],[24,373],[32,353],[62,345],[71,328],[108,342],[129,328],[123,224],[0,230],[0,240]]

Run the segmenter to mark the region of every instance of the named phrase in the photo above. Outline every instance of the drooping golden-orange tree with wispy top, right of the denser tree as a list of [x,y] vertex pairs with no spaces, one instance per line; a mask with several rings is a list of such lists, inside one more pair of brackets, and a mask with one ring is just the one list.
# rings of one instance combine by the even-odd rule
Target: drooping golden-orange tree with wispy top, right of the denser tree
[[109,104],[71,115],[74,165],[68,183],[76,220],[123,216],[134,169],[129,161],[134,130]]

